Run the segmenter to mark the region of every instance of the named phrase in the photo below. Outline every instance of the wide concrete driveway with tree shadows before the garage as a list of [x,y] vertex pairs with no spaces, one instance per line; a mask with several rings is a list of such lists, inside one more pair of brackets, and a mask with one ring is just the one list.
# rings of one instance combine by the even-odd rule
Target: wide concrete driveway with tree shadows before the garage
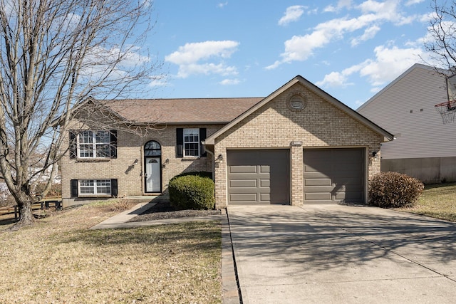
[[456,225],[369,206],[229,206],[243,303],[455,303]]

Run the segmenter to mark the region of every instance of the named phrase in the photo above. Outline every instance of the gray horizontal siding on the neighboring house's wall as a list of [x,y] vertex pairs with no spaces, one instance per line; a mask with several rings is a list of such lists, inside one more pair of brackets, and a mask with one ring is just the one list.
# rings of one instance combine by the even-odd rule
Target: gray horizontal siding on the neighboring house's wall
[[443,125],[434,107],[446,100],[445,78],[413,65],[358,112],[395,135],[382,144],[382,159],[454,157],[456,122]]

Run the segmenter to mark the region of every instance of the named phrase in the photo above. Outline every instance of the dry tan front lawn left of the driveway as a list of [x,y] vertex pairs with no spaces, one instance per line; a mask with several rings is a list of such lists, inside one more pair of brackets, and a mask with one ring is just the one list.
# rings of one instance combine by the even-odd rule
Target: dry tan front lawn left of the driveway
[[105,204],[0,226],[0,303],[221,303],[221,227],[88,230]]

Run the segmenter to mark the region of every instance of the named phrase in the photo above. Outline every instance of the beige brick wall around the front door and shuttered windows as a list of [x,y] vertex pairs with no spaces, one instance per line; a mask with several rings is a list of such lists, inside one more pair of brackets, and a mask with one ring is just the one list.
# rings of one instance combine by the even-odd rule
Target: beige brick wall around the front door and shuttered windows
[[[207,136],[219,130],[220,125],[168,125],[149,130],[146,136],[133,132],[118,130],[118,155],[116,159],[89,161],[70,159],[68,152],[61,162],[62,196],[64,204],[79,204],[71,196],[71,179],[118,179],[119,196],[140,196],[145,193],[144,181],[144,145],[155,140],[162,147],[162,192],[167,190],[172,177],[182,172],[212,172],[212,155],[207,157],[182,158],[176,157],[176,128],[205,127]],[[90,127],[85,127],[90,129]],[[65,135],[68,138],[68,134]],[[68,142],[68,140],[67,140]],[[68,144],[63,147],[66,150]],[[138,159],[138,164],[134,164]],[[165,164],[165,160],[169,162]]]

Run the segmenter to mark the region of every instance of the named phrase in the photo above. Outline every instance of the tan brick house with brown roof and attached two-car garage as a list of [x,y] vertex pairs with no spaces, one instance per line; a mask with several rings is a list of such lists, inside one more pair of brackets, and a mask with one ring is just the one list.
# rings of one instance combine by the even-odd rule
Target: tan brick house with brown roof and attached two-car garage
[[380,172],[380,143],[393,140],[301,76],[266,98],[93,102],[110,113],[94,122],[128,131],[75,119],[61,162],[63,206],[160,194],[192,171],[213,173],[218,208],[364,203],[368,177]]

